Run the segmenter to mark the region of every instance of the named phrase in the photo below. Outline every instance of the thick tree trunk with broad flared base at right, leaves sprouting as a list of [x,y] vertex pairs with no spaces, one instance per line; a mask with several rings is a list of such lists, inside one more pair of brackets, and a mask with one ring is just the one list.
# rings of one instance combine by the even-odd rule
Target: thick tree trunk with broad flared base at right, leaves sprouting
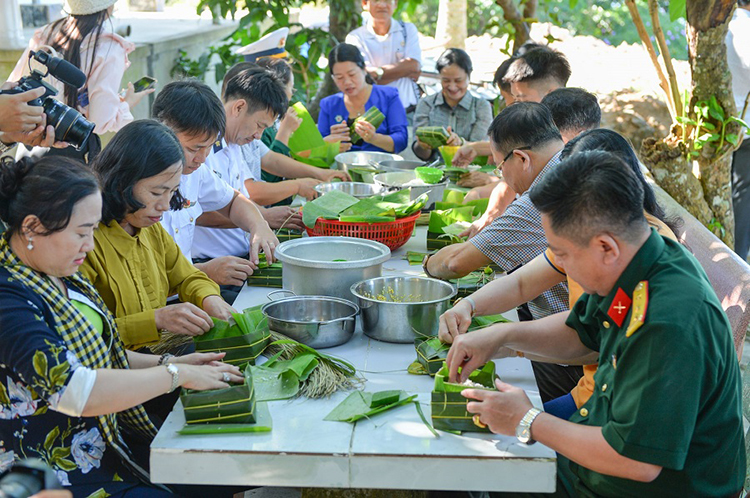
[[[692,119],[696,119],[693,110],[696,102],[708,101],[712,96],[721,105],[725,116],[736,114],[724,45],[735,4],[736,0],[687,2],[692,97],[684,112]],[[721,129],[721,122],[714,120],[711,123]],[[738,130],[738,125],[730,124],[726,132],[737,133]],[[730,191],[733,147],[725,145],[717,151],[716,145],[715,142],[706,143],[695,161],[689,161],[682,125],[675,125],[663,140],[644,140],[641,158],[669,195],[733,247],[734,215]],[[693,173],[694,166],[700,178]]]

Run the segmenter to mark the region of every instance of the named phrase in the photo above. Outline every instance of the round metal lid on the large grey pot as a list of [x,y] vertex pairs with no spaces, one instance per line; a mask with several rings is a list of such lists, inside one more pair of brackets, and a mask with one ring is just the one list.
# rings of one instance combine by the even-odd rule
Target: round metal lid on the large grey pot
[[354,237],[302,237],[282,242],[274,255],[285,264],[346,270],[383,264],[391,258],[391,250],[380,242]]

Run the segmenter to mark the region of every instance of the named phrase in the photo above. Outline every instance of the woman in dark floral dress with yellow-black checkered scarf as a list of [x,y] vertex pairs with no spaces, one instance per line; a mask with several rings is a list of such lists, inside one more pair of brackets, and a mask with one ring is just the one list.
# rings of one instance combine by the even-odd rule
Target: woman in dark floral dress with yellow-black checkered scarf
[[240,382],[223,355],[126,352],[93,286],[78,273],[102,200],[76,161],[0,164],[0,471],[39,458],[74,496],[158,497],[128,440],[155,428],[140,403],[183,386]]

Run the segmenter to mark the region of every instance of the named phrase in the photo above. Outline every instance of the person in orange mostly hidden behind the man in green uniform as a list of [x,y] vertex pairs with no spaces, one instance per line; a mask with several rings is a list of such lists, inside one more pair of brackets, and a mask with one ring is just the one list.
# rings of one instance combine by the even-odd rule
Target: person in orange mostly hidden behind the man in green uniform
[[[662,236],[676,240],[673,230],[669,227],[670,222],[665,222],[664,210],[656,202],[656,197],[640,169],[638,157],[633,148],[622,135],[612,130],[603,128],[581,133],[567,143],[562,152],[562,159],[570,157],[577,152],[588,150],[603,150],[611,152],[623,159],[635,172],[636,176],[643,182],[643,210],[649,224]],[[456,303],[450,310],[440,317],[440,338],[444,342],[453,342],[453,339],[468,330],[471,319],[476,315],[492,315],[504,313],[524,303],[553,285],[566,282],[569,286],[570,306],[578,300],[583,289],[574,282],[557,266],[554,255],[548,249],[507,277],[490,282],[466,299]],[[567,316],[567,313],[560,313]],[[515,354],[506,350],[505,355]],[[518,353],[522,356],[521,353]],[[530,355],[526,355],[529,356]],[[545,361],[544,358],[532,358],[537,361]],[[583,377],[573,390],[564,396],[548,401],[544,404],[544,410],[567,419],[573,412],[582,406],[591,397],[594,389],[594,373],[597,365],[588,364],[583,367]]]

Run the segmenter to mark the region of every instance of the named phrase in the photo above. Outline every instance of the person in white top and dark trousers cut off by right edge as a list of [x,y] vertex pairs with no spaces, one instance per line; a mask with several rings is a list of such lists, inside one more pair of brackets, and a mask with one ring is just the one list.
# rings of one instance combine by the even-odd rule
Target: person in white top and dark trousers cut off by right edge
[[[737,9],[729,21],[726,45],[732,93],[737,113],[741,114],[750,93],[750,0],[737,0]],[[732,204],[734,250],[746,259],[750,250],[750,139],[747,136],[732,159]]]

